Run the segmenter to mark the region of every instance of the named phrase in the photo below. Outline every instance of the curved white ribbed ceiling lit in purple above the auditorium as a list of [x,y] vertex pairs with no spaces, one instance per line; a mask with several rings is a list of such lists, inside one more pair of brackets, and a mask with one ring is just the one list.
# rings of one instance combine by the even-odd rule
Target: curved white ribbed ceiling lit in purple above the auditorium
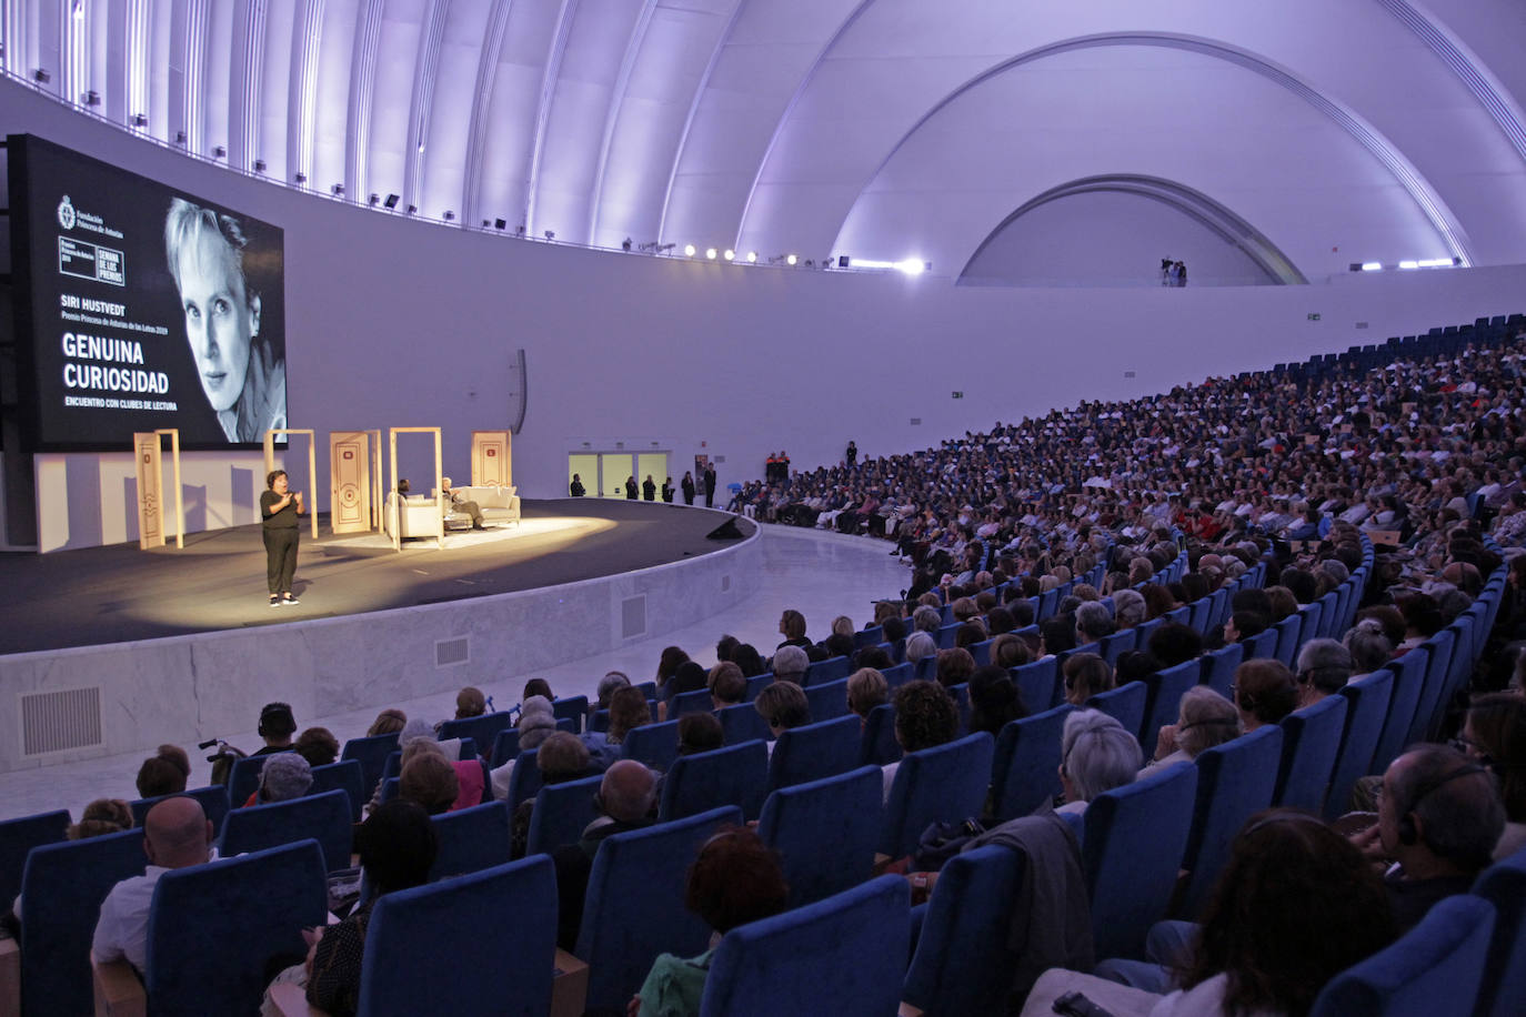
[[0,0],[0,40],[192,154],[571,242],[957,274],[1141,175],[1308,278],[1526,261],[1515,0]]

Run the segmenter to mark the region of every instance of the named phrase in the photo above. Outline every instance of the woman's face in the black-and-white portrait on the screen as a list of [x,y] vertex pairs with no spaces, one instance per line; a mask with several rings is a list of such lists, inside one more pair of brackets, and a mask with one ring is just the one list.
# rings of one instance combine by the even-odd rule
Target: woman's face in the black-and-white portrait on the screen
[[249,346],[259,334],[259,297],[249,299],[238,256],[218,233],[197,230],[180,252],[180,308],[206,401],[233,409],[249,374]]

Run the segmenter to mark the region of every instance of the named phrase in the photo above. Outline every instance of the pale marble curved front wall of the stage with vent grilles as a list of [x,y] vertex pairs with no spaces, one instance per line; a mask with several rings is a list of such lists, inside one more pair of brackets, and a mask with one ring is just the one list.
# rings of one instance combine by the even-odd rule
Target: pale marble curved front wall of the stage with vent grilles
[[[751,529],[705,555],[560,585],[3,656],[0,730],[14,735],[0,738],[0,773],[244,730],[275,700],[298,717],[330,717],[661,636],[757,592],[763,555]],[[73,747],[47,749],[61,743]]]

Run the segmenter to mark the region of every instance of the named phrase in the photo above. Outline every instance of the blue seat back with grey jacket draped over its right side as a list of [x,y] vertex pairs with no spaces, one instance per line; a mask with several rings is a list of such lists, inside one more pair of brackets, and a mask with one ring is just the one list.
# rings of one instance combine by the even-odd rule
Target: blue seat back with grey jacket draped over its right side
[[1003,1014],[1019,954],[1012,906],[1027,855],[986,845],[949,858],[917,938],[902,997],[928,1014]]

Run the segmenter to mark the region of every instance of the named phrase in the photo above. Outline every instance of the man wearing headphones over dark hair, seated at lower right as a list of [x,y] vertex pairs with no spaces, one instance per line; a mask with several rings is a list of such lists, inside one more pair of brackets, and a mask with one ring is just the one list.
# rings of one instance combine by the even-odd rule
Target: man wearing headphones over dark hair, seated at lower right
[[1468,892],[1503,829],[1494,775],[1450,746],[1424,744],[1389,764],[1378,822],[1352,843],[1370,860],[1393,863],[1383,884],[1402,935],[1436,901]]

